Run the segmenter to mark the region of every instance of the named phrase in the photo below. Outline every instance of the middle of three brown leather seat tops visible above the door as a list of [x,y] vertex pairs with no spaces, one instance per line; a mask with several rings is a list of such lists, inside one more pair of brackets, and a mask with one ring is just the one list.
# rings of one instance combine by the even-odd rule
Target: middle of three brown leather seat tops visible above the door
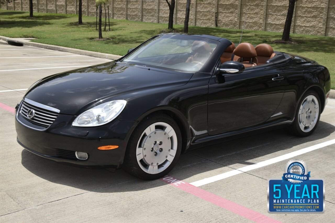
[[240,43],[236,49],[234,49],[233,53],[240,57],[237,62],[242,63],[245,68],[258,65],[255,47],[248,42]]

